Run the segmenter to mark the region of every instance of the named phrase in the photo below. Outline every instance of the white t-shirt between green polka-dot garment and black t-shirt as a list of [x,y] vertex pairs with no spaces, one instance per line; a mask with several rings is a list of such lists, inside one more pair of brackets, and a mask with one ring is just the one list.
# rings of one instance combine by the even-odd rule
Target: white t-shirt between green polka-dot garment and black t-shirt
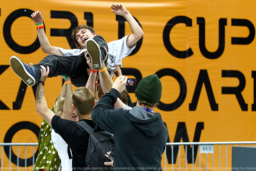
[[72,171],[72,159],[68,158],[68,144],[53,129],[51,132],[51,138],[61,160],[61,171]]

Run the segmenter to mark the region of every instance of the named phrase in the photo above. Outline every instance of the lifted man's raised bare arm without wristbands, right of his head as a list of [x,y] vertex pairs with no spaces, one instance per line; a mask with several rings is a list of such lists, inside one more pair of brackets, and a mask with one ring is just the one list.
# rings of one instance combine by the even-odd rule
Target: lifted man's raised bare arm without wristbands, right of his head
[[143,30],[137,21],[132,17],[132,14],[122,4],[112,4],[111,11],[116,15],[122,15],[129,23],[132,30],[132,34],[128,36],[126,44],[128,48],[131,48],[141,37],[144,36]]

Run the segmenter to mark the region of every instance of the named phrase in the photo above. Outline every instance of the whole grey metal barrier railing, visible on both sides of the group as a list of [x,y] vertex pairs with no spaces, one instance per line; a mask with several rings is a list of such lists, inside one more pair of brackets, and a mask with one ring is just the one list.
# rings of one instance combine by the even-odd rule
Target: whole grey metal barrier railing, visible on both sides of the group
[[[256,141],[242,141],[242,142],[185,142],[185,143],[166,143],[165,146],[165,152],[164,152],[164,168],[163,170],[231,170],[230,163],[231,161],[228,161],[228,146],[247,146],[247,145],[254,145],[256,144]],[[185,159],[181,158],[181,149],[180,146],[184,145],[185,148],[185,155],[183,155],[185,157]],[[221,152],[221,145],[225,145],[225,152]],[[19,157],[19,147],[20,146],[25,146],[25,159],[24,159],[24,166],[25,167],[25,171],[27,170],[27,146],[32,146],[33,147],[33,152],[32,152],[32,166],[34,166],[35,164],[35,146],[38,146],[38,143],[0,143],[1,146],[1,171],[6,170],[4,169],[4,151],[5,153],[9,155],[9,171],[11,170],[15,170],[15,169],[11,169],[11,162],[12,160],[12,155],[16,157],[16,155],[12,152],[12,147],[13,146],[17,146],[17,171],[19,170],[19,163],[20,163],[20,157]],[[8,147],[9,146],[9,147]],[[192,147],[191,147],[192,146]],[[218,146],[219,147],[219,156],[214,156],[214,146]],[[198,151],[199,149],[199,151]],[[168,153],[167,153],[168,151]],[[190,154],[188,155],[188,151],[190,152]],[[229,149],[230,151],[230,149]],[[216,153],[216,148],[215,148],[215,153]],[[176,159],[177,159],[177,155],[179,153],[179,163],[178,163],[178,167],[174,167],[174,164],[176,164]],[[197,153],[199,154],[199,162],[198,162],[198,166],[195,167],[195,162],[196,162],[196,155]],[[203,163],[205,165],[205,167],[201,167],[202,163],[201,163],[201,154],[205,153],[205,163]],[[212,169],[208,169],[208,153],[212,153]],[[221,166],[221,154],[225,154],[225,167]],[[171,163],[169,161],[170,159],[170,155],[171,155]],[[168,158],[169,156],[169,158]],[[7,156],[8,157],[8,156]],[[176,157],[176,158],[175,158]],[[230,157],[230,156],[229,156]],[[172,165],[172,167],[167,167],[167,158],[168,158],[168,163]],[[192,158],[192,159],[191,159]],[[219,159],[218,159],[219,158]],[[222,157],[223,158],[223,157]],[[191,168],[188,168],[188,159],[189,164],[192,164]],[[214,159],[218,159],[218,160],[214,160]],[[22,159],[23,160],[23,159]],[[184,162],[181,162],[181,161]],[[175,162],[174,162],[175,161]],[[229,163],[228,163],[229,162]],[[6,162],[5,162],[6,163]],[[16,163],[16,160],[15,160]],[[222,162],[223,163],[223,162]],[[31,164],[29,166],[31,166]],[[218,164],[219,167],[214,167],[215,164]],[[7,169],[8,170],[8,169]]]

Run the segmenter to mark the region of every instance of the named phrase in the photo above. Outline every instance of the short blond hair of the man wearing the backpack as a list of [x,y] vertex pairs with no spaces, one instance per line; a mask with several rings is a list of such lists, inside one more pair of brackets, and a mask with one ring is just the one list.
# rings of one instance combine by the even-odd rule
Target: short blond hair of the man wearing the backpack
[[85,87],[78,87],[72,96],[73,104],[81,115],[92,112],[95,97],[92,91]]

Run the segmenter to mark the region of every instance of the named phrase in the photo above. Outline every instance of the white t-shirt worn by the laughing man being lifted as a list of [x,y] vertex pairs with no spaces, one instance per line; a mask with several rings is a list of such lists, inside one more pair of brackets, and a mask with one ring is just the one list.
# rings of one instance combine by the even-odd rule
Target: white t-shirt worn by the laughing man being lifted
[[[128,56],[132,50],[136,47],[134,44],[131,48],[127,47],[126,40],[127,36],[124,36],[122,39],[118,39],[116,41],[108,42],[108,71],[110,71],[110,76],[113,78],[114,71],[116,70],[115,65],[119,65],[122,67],[122,59]],[[86,49],[63,49],[58,47],[63,56],[76,56],[85,52]]]

